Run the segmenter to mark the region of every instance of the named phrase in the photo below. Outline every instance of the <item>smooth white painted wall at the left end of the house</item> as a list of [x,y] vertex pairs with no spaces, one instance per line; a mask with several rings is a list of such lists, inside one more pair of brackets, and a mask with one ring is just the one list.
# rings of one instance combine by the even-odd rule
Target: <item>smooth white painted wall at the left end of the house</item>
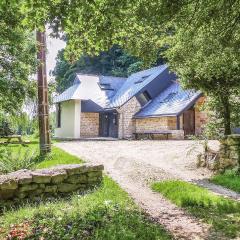
[[57,138],[80,138],[81,101],[61,103],[61,127],[55,129]]

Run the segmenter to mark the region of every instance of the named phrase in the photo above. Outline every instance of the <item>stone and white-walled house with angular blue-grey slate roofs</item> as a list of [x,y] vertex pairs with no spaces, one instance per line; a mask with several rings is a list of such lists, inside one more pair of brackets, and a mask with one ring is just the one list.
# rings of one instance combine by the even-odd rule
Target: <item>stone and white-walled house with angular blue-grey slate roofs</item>
[[57,138],[132,138],[168,131],[172,138],[199,134],[206,122],[201,92],[183,90],[167,65],[128,78],[76,75],[73,86],[54,99]]

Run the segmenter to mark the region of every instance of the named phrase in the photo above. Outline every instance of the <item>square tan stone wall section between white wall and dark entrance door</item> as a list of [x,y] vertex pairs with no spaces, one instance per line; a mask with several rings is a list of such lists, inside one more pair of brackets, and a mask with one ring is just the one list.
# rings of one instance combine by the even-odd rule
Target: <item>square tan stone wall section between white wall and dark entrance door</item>
[[99,136],[99,113],[81,112],[80,137]]

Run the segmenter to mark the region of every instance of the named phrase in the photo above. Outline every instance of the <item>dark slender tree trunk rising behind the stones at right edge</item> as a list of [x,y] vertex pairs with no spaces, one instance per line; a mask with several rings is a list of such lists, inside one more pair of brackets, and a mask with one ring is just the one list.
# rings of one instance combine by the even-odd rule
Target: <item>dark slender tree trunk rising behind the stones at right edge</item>
[[230,103],[229,103],[229,95],[228,94],[221,94],[220,96],[222,106],[223,106],[223,124],[224,124],[224,135],[231,134],[231,110],[230,110]]

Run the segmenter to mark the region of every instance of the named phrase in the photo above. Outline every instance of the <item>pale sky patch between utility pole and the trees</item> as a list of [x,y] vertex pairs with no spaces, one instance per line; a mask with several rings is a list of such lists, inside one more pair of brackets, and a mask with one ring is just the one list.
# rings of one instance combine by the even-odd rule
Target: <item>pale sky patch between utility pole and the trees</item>
[[56,65],[56,57],[59,50],[65,48],[66,43],[60,39],[50,38],[49,37],[50,31],[47,30],[47,76],[48,81],[50,80],[49,72],[54,69]]

